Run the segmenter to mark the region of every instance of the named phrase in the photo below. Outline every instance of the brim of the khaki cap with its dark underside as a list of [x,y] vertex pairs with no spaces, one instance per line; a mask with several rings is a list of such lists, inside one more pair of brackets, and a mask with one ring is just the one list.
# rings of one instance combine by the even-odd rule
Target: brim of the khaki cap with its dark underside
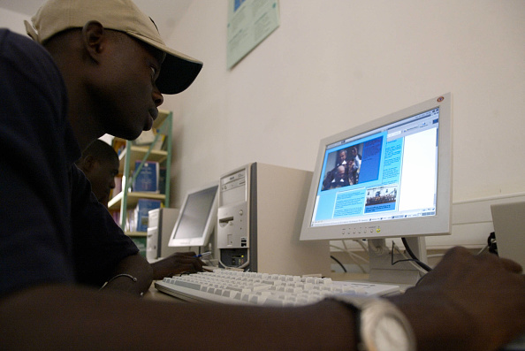
[[130,33],[135,38],[146,42],[158,50],[166,53],[160,74],[156,80],[156,88],[163,94],[178,94],[188,88],[197,78],[202,69],[202,62],[193,57],[186,56],[167,46],[155,42],[141,34]]

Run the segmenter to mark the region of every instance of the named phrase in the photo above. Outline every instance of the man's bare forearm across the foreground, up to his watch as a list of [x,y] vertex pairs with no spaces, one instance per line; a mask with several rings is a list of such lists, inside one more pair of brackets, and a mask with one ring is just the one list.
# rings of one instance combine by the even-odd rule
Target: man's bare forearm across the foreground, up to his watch
[[[217,316],[227,322],[211,323]],[[334,301],[286,310],[162,303],[74,286],[0,299],[0,349],[339,350],[354,349],[353,331],[351,312]]]

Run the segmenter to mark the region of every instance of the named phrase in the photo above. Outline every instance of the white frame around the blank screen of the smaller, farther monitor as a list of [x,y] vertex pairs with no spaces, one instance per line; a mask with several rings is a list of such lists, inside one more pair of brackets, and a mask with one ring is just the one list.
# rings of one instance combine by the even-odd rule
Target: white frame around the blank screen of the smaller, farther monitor
[[[216,192],[213,197],[211,207],[206,216],[206,225],[204,225],[204,230],[202,231],[202,235],[196,238],[178,238],[177,233],[179,233],[178,232],[179,225],[184,216],[188,200],[190,199],[192,195],[207,191],[212,187],[215,187]],[[209,237],[211,236],[211,233],[213,233],[213,230],[215,229],[215,225],[217,222],[217,202],[218,202],[218,181],[212,184],[207,184],[206,186],[203,186],[203,187],[195,187],[193,189],[188,190],[184,197],[184,202],[182,203],[182,206],[180,207],[179,217],[177,218],[177,221],[175,222],[175,225],[173,226],[173,230],[171,231],[170,241],[168,242],[168,247],[171,247],[171,248],[194,247],[194,246],[202,247],[202,246],[207,245],[209,241]]]

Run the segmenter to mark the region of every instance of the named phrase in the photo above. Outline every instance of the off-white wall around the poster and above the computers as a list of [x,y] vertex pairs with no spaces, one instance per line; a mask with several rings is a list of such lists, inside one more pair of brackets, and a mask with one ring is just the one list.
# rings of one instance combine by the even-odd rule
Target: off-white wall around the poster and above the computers
[[174,201],[252,161],[313,170],[318,141],[453,94],[454,202],[525,191],[525,2],[281,0],[281,25],[226,69],[226,1],[168,42],[204,62],[174,111]]

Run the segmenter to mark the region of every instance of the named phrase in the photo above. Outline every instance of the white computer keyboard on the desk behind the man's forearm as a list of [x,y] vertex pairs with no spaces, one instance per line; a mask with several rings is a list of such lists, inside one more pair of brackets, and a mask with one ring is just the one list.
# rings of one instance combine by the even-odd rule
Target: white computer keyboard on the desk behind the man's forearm
[[157,281],[155,287],[186,301],[266,306],[306,305],[333,294],[384,296],[399,293],[399,286],[395,285],[221,269],[164,278]]

